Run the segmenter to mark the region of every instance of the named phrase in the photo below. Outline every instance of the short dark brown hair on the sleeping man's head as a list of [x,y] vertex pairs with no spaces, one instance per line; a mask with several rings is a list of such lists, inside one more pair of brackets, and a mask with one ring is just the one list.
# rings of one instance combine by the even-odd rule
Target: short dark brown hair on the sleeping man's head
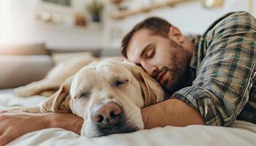
[[132,30],[124,36],[121,42],[121,54],[124,55],[125,58],[127,58],[127,46],[129,45],[129,41],[136,31],[142,28],[146,28],[151,30],[153,34],[157,34],[162,37],[167,37],[171,26],[172,25],[170,23],[168,23],[166,20],[163,20],[162,18],[146,18],[145,20],[134,26]]

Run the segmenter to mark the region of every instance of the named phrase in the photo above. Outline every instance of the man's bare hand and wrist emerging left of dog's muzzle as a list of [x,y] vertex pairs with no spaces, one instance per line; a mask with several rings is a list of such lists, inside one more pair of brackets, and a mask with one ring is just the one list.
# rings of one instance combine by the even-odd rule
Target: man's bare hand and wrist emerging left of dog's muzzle
[[72,114],[48,112],[6,112],[0,114],[0,146],[32,131],[43,128],[64,128],[78,133],[83,119]]

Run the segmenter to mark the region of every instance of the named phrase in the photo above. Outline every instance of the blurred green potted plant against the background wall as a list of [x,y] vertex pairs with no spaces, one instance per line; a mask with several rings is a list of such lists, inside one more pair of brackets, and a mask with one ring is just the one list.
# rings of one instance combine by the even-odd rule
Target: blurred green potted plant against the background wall
[[100,15],[104,8],[102,1],[93,0],[90,4],[87,5],[87,9],[91,14],[91,18],[93,22],[100,22]]

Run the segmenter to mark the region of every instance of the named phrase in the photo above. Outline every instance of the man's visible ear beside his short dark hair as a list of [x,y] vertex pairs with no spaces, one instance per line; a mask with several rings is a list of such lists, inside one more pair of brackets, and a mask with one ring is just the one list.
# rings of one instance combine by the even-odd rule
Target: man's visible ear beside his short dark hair
[[185,40],[185,37],[182,35],[181,31],[175,26],[170,26],[168,36],[178,44],[182,44]]

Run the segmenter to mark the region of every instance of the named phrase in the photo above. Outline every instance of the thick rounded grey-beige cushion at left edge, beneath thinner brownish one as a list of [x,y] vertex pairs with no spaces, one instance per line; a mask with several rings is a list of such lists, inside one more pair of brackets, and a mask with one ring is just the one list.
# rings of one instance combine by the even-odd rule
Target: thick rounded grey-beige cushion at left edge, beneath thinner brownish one
[[0,55],[0,89],[42,80],[52,67],[50,55]]

